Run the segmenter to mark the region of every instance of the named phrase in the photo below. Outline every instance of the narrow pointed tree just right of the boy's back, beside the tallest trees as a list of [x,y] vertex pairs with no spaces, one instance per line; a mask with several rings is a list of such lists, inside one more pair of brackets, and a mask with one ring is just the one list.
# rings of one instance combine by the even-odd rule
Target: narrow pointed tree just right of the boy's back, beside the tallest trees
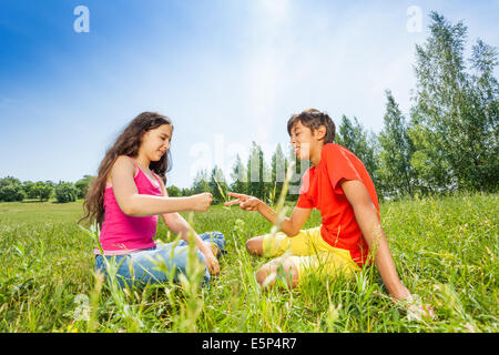
[[385,94],[387,98],[385,126],[378,136],[379,189],[384,195],[391,197],[405,194],[413,196],[415,173],[410,159],[414,149],[407,132],[408,125],[391,92],[387,90]]

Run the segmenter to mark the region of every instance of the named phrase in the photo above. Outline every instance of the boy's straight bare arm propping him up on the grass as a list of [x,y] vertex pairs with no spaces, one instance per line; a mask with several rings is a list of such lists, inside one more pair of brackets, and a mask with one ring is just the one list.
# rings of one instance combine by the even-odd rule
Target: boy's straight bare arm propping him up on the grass
[[375,253],[375,263],[388,293],[395,300],[409,298],[410,292],[398,278],[378,211],[373,204],[367,189],[358,180],[342,180],[340,185],[354,209],[355,219],[369,245],[369,250]]

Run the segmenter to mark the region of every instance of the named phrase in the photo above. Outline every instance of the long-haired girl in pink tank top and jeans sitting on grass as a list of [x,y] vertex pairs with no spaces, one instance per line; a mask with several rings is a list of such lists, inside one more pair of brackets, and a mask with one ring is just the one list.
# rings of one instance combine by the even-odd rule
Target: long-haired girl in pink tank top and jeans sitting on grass
[[[139,114],[105,153],[83,204],[82,220],[96,221],[101,226],[99,242],[103,254],[95,248],[95,270],[105,272],[104,257],[119,265],[120,286],[164,282],[177,273],[185,273],[187,240],[193,235],[197,257],[205,264],[204,281],[210,273],[220,272],[215,255],[224,252],[222,233],[197,235],[179,214],[181,211],[206,211],[212,194],[169,197],[165,172],[170,168],[170,142],[173,124],[169,118],[154,112]],[[160,179],[161,178],[161,179]],[[157,215],[182,241],[156,245]],[[165,274],[154,262],[163,261],[172,274]]]

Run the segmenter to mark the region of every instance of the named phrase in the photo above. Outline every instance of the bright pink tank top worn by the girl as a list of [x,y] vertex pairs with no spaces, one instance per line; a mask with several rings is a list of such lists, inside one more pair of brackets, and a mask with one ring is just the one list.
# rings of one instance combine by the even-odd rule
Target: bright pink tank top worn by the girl
[[[133,163],[138,169],[133,180],[139,193],[162,196],[157,176],[154,175],[156,181],[152,182],[134,160]],[[108,184],[104,191],[104,211],[99,242],[105,255],[128,254],[156,245],[153,237],[156,234],[157,215],[134,217],[124,214],[118,205],[111,184]],[[95,248],[94,253],[100,254],[99,248]]]

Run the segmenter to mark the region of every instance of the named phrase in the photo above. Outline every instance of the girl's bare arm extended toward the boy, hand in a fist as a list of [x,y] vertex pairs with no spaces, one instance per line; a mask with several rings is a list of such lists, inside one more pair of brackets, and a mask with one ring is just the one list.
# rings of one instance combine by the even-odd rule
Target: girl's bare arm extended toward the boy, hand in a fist
[[210,193],[189,197],[140,194],[133,180],[134,172],[135,165],[124,156],[116,160],[110,172],[114,197],[121,211],[126,215],[150,216],[179,211],[206,211],[212,202]]

